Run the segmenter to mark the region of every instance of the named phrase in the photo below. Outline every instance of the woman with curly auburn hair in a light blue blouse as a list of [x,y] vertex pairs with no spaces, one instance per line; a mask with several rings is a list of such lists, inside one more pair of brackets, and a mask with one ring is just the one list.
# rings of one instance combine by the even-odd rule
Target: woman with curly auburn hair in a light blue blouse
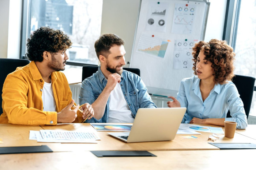
[[[237,129],[247,127],[244,104],[231,79],[234,74],[234,52],[226,41],[200,41],[193,47],[193,71],[196,76],[181,81],[177,99],[169,107],[187,107],[182,123],[224,126],[237,122]],[[226,118],[230,111],[231,118]]]

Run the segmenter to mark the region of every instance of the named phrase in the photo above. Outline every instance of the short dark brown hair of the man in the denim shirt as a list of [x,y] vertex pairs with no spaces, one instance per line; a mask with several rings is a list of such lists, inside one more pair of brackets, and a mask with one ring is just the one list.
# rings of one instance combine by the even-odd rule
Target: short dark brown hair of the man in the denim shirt
[[97,57],[99,55],[103,55],[108,57],[110,54],[109,49],[113,46],[121,46],[124,45],[124,40],[112,33],[106,33],[99,36],[99,39],[95,41],[94,48]]

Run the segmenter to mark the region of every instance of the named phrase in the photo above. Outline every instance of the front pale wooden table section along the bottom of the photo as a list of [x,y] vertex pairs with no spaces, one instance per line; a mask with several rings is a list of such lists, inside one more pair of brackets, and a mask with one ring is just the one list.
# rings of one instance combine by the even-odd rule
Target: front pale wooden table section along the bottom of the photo
[[157,157],[102,157],[90,151],[0,155],[0,169],[254,169],[256,150],[150,151]]

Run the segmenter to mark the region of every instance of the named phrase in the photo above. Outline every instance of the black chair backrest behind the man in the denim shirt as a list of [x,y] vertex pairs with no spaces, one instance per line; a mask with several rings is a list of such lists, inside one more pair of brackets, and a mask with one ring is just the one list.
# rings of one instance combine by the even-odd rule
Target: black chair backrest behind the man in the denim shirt
[[[139,68],[123,68],[124,70],[130,71],[132,73],[137,74],[140,76],[140,69]],[[82,82],[87,77],[92,76],[96,71],[98,71],[98,66],[83,66],[82,71]]]

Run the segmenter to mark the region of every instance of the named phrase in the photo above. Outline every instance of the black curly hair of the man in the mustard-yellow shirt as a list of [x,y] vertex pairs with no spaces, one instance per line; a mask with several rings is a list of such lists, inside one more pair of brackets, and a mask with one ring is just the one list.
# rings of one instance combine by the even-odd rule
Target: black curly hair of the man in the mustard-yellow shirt
[[30,61],[42,62],[43,52],[51,54],[71,48],[72,42],[62,31],[49,27],[40,27],[33,31],[30,39],[27,39],[26,56]]

